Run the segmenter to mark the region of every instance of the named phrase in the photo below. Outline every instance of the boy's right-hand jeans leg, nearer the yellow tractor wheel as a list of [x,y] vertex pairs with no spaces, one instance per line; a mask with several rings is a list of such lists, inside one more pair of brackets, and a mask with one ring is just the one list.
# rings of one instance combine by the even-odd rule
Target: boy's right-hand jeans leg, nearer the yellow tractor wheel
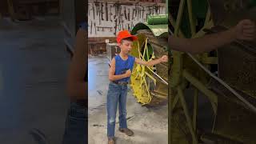
[[127,96],[127,86],[122,86],[121,94],[119,96],[119,127],[127,128],[126,122],[126,96]]

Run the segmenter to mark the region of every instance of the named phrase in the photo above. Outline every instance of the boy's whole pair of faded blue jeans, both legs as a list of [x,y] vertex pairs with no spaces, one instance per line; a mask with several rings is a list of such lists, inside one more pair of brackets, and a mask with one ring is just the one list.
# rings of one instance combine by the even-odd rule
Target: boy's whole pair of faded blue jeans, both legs
[[110,82],[106,98],[107,110],[107,137],[114,138],[115,117],[119,109],[119,127],[127,128],[126,123],[126,95],[127,86]]

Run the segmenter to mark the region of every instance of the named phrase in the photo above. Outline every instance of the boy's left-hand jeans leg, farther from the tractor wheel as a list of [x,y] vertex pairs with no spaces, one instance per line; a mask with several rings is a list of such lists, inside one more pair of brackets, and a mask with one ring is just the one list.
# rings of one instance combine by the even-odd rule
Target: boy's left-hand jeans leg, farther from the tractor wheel
[[107,137],[108,138],[114,138],[115,118],[117,114],[119,95],[120,95],[119,86],[110,82],[109,90],[106,96]]

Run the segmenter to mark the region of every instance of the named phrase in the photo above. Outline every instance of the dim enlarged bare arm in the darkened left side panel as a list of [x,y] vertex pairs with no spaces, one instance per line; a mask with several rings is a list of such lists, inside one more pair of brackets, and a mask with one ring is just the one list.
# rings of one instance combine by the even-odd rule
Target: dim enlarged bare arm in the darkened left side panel
[[67,92],[71,99],[86,98],[86,30],[79,29],[76,35],[74,56],[70,62]]

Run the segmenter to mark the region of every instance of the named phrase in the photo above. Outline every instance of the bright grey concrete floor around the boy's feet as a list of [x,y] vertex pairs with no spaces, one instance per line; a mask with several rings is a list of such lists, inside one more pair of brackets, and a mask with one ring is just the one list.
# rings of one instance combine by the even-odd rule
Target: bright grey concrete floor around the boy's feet
[[[89,63],[89,144],[106,144],[106,93],[108,89],[108,62],[106,56],[90,57]],[[118,131],[117,144],[168,143],[168,112],[166,106],[141,106],[129,90],[127,95],[127,124],[134,130],[128,137]]]

